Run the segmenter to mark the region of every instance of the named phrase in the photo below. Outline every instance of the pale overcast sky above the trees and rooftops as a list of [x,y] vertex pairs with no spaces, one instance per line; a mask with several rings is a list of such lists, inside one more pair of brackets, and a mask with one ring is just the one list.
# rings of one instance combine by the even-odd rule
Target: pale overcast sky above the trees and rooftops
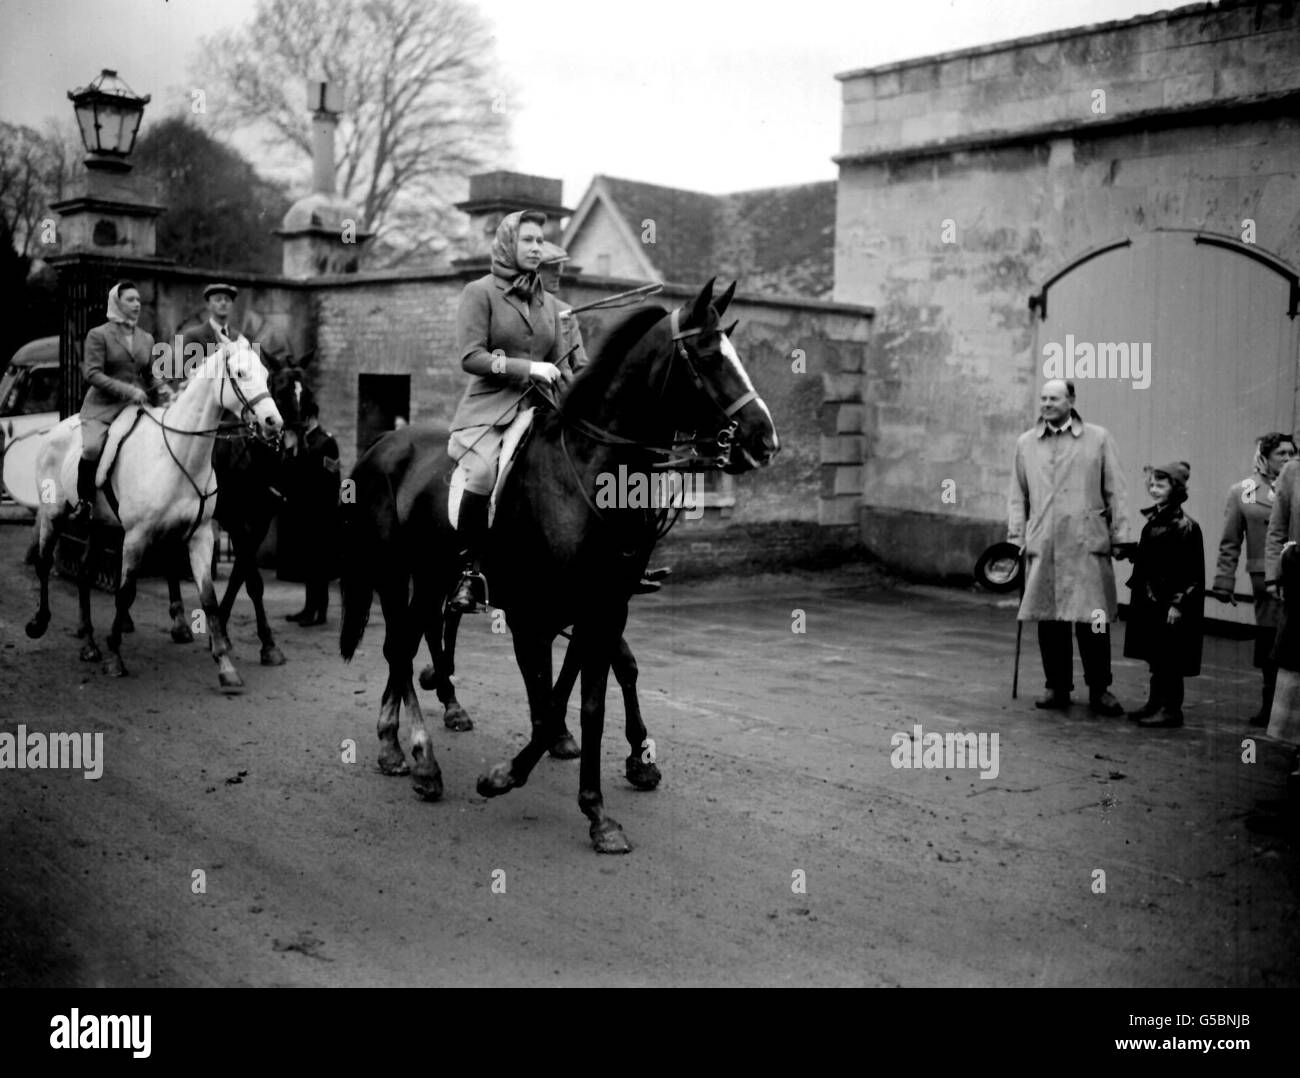
[[[1148,0],[481,0],[506,73],[500,166],[733,191],[831,179],[837,72],[1176,7]],[[256,0],[0,0],[0,120],[70,120],[114,68],[159,116],[190,101],[199,38]],[[256,146],[237,144],[255,157]],[[306,174],[306,166],[304,166]]]

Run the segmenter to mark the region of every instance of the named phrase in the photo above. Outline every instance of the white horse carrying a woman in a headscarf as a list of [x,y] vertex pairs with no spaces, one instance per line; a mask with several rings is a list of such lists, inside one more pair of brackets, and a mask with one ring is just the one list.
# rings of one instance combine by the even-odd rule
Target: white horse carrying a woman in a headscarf
[[[143,415],[139,415],[143,412]],[[186,382],[179,397],[165,408],[127,407],[113,421],[104,440],[96,485],[95,519],[121,521],[122,571],[117,586],[117,616],[108,635],[104,672],[112,677],[126,674],[120,648],[135,601],[135,577],[146,549],[162,538],[181,537],[188,545],[190,568],[199,588],[199,602],[212,637],[212,657],[217,662],[224,689],[243,685],[230,662],[226,636],[212,586],[212,512],[217,503],[217,484],[212,468],[212,445],[224,412],[233,412],[272,438],[283,425],[276,402],[266,388],[266,369],[256,351],[243,339],[224,345],[208,355]],[[112,462],[116,447],[116,462]],[[36,454],[36,573],[40,576],[40,606],[27,623],[32,640],[49,625],[49,566],[55,542],[77,501],[77,462],[81,459],[81,419],[69,416],[47,436]],[[110,472],[110,480],[109,480]],[[105,490],[116,497],[116,514]],[[81,628],[86,638],[81,657],[99,662],[90,622],[90,544],[78,573]]]

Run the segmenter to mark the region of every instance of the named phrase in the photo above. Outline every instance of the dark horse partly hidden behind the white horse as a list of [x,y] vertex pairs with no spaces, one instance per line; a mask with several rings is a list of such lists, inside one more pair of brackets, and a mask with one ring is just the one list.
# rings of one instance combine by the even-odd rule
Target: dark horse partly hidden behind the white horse
[[[285,421],[283,429],[300,432],[303,408],[311,402],[311,390],[303,381],[302,369],[282,367],[272,371],[268,381],[276,407]],[[235,597],[240,588],[247,586],[257,618],[261,664],[282,666],[285,655],[276,646],[263,603],[257,547],[266,538],[270,521],[285,506],[283,442],[247,437],[221,438],[212,449],[212,467],[217,477],[217,507],[213,518],[230,536],[235,553],[230,580],[221,598],[221,624],[229,624]],[[168,599],[172,638],[177,644],[188,644],[194,640],[194,633],[185,616],[181,579],[174,570],[168,573]]]

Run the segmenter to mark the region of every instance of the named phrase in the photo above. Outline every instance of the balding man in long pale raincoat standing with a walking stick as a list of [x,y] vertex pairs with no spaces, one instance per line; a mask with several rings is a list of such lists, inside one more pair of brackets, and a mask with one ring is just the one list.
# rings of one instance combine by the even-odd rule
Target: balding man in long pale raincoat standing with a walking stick
[[1088,702],[1123,714],[1110,693],[1110,625],[1118,615],[1117,547],[1128,546],[1124,477],[1105,428],[1074,410],[1074,384],[1045,382],[1039,421],[1015,442],[1008,538],[1026,555],[1019,619],[1039,623],[1046,694],[1036,707],[1066,710],[1074,688],[1074,624]]

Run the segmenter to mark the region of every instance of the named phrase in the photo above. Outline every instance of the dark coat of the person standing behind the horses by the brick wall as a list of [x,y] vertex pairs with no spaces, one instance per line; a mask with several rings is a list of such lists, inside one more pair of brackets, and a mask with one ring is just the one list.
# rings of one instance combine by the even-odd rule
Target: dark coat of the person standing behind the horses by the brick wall
[[317,427],[285,460],[285,507],[276,532],[276,575],[281,580],[338,576],[338,442]]

